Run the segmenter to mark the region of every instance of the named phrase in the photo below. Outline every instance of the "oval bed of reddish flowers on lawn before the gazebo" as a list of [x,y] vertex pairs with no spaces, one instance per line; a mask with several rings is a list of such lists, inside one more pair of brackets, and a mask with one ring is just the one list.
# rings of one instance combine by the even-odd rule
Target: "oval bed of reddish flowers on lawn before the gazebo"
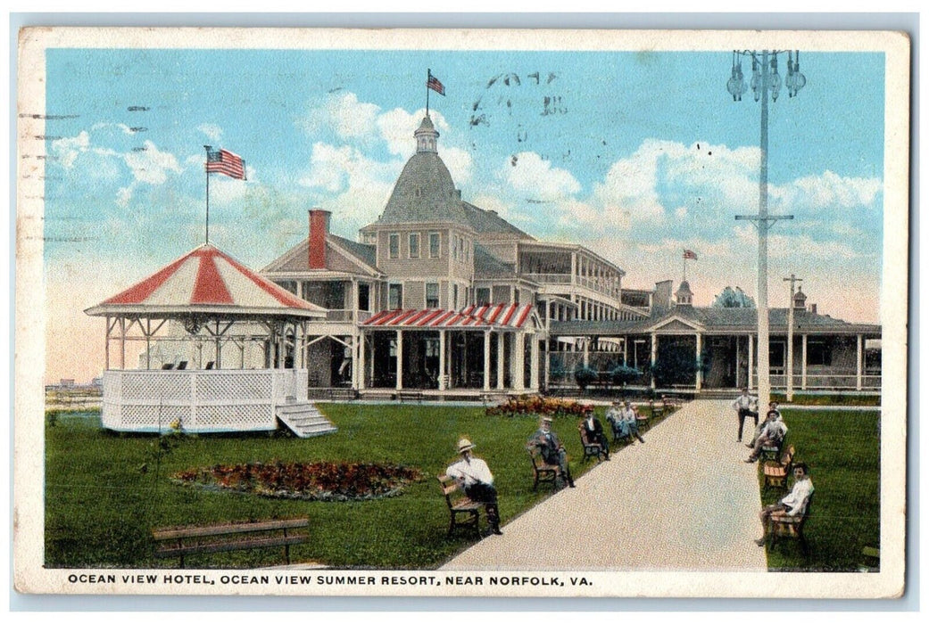
[[184,486],[300,500],[382,499],[422,479],[416,468],[334,461],[216,464],[172,475]]

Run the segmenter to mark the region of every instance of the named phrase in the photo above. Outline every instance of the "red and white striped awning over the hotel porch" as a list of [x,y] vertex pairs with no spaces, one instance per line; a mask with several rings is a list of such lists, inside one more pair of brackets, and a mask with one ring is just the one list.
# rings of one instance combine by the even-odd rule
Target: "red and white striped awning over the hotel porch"
[[462,310],[440,308],[385,310],[362,327],[454,330],[519,330],[532,313],[531,304],[468,305]]

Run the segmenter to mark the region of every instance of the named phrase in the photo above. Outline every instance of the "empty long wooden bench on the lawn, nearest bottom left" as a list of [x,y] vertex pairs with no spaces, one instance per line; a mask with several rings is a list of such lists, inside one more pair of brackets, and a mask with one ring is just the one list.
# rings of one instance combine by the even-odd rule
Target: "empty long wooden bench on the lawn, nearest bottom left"
[[284,559],[290,564],[290,547],[307,541],[307,526],[309,518],[292,518],[215,526],[156,528],[151,531],[151,535],[156,542],[155,556],[179,557],[180,567],[184,567],[184,557],[188,554],[277,546],[283,546]]

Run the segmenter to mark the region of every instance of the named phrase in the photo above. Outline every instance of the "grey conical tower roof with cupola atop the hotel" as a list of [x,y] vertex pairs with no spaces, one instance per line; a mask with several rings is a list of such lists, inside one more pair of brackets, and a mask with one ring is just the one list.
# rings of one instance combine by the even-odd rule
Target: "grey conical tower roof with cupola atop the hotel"
[[414,135],[416,153],[404,165],[377,222],[451,221],[470,227],[449,169],[435,150],[438,132],[432,121],[425,117]]

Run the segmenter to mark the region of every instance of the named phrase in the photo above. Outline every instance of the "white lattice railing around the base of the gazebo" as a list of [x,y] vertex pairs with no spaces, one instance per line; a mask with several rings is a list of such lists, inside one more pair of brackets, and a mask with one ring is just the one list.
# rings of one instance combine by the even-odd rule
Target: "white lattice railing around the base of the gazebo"
[[269,431],[275,409],[307,400],[307,370],[107,370],[103,426],[116,431]]

